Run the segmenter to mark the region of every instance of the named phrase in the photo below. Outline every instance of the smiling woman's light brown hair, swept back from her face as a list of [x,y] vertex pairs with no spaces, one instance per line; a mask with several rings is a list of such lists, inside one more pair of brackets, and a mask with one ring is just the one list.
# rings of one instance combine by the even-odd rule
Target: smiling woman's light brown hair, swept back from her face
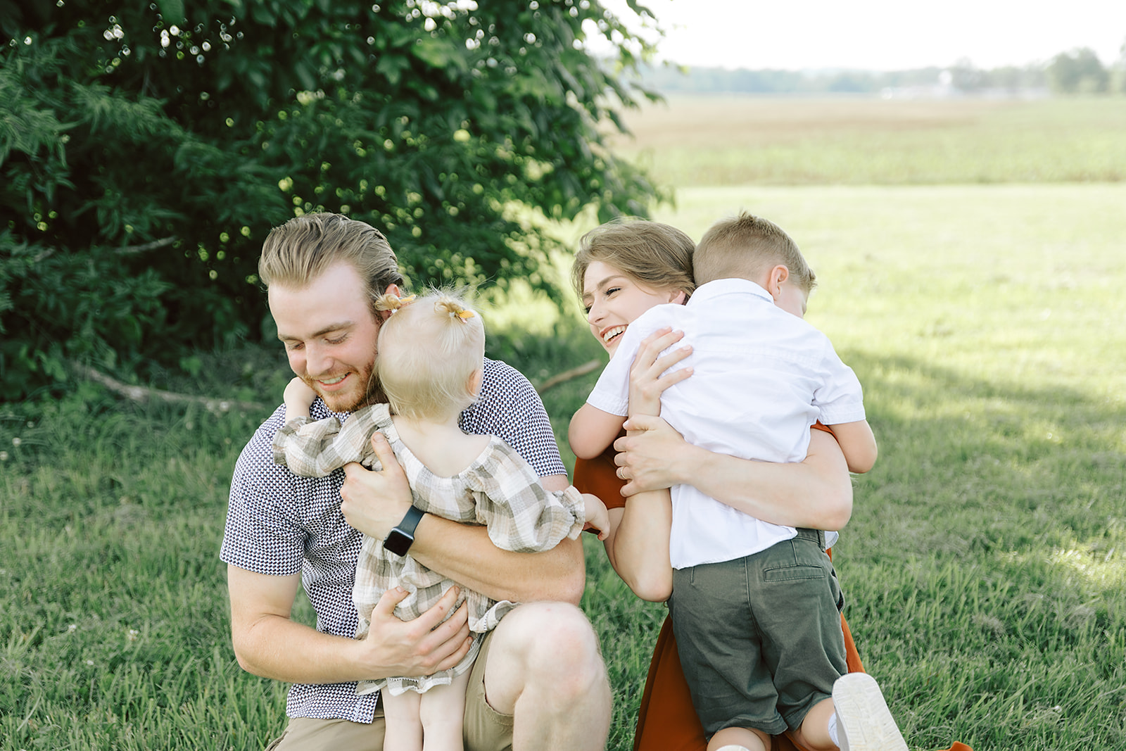
[[571,283],[582,298],[587,267],[601,261],[656,290],[696,290],[692,251],[696,243],[674,226],[637,217],[619,217],[582,235],[571,267]]

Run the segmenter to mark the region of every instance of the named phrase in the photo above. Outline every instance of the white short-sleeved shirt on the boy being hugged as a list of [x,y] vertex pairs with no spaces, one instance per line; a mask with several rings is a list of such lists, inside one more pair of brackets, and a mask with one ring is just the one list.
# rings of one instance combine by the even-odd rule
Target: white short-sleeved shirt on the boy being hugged
[[[641,341],[663,327],[683,331],[692,354],[676,367],[691,377],[665,390],[661,417],[711,452],[766,462],[801,462],[810,427],[864,420],[860,383],[815,328],[775,306],[745,279],[700,286],[686,305],[658,305],[637,318],[587,400],[611,414],[629,406],[629,366]],[[705,495],[672,488],[674,569],[732,561],[796,535]]]

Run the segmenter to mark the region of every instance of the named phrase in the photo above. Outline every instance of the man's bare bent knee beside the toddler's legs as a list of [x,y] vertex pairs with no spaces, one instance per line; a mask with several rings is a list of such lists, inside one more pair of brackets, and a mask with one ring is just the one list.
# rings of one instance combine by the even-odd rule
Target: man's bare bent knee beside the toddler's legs
[[601,750],[610,686],[598,637],[566,602],[529,602],[481,647],[465,706],[468,751]]

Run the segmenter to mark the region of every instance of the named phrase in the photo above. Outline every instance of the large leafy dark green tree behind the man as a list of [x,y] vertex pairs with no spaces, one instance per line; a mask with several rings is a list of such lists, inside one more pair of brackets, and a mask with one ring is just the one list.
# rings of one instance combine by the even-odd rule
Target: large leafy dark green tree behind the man
[[513,207],[660,194],[602,128],[653,97],[620,75],[652,45],[589,0],[30,0],[0,29],[10,399],[260,338],[258,249],[294,214],[379,226],[417,281],[547,287],[553,241]]

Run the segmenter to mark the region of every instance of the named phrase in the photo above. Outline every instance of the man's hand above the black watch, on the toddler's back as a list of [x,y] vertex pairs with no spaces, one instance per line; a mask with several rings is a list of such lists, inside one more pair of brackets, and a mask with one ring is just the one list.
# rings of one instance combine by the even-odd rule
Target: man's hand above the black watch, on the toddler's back
[[406,516],[411,507],[411,485],[383,433],[372,435],[372,450],[383,468],[372,472],[355,462],[346,464],[340,511],[354,529],[383,539]]

